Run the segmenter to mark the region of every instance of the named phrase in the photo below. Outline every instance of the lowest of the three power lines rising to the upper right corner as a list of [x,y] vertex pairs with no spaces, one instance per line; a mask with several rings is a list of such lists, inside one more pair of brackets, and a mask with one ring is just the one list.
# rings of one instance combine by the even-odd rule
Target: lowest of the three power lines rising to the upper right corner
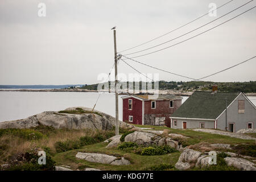
[[209,28],[209,29],[206,30],[206,31],[201,32],[200,34],[197,34],[197,35],[195,35],[195,36],[192,36],[191,38],[185,39],[185,40],[183,40],[183,41],[181,41],[181,42],[178,42],[178,43],[176,43],[176,44],[172,44],[171,46],[168,46],[168,47],[165,47],[165,48],[162,48],[162,49],[158,49],[158,50],[156,50],[156,51],[154,51],[154,52],[145,53],[144,55],[134,56],[134,57],[131,57],[131,58],[136,58],[136,57],[142,57],[142,56],[150,55],[150,54],[152,54],[152,53],[156,53],[156,52],[159,52],[159,51],[163,51],[164,49],[167,49],[167,48],[170,48],[170,47],[174,47],[174,46],[176,46],[176,45],[178,45],[178,44],[181,44],[181,43],[183,43],[183,42],[186,42],[187,40],[190,40],[190,39],[192,39],[192,38],[195,38],[196,36],[199,36],[199,35],[201,35],[201,34],[204,34],[205,32],[208,32],[208,31],[210,31],[210,30],[213,30],[213,28],[216,28],[216,27],[218,27],[218,26],[221,26],[222,24],[224,24],[224,23],[226,23],[226,22],[229,22],[230,20],[232,20],[232,19],[234,19],[234,18],[237,18],[238,16],[240,16],[240,15],[242,15],[242,14],[245,14],[247,11],[250,11],[250,10],[252,10],[252,9],[254,9],[254,8],[255,8],[255,6],[254,6],[254,7],[251,7],[249,10],[243,11],[243,13],[238,14],[238,15],[234,16],[233,18],[230,18],[230,19],[226,20],[226,21],[223,22],[223,23],[218,24],[217,26],[214,26],[214,27],[212,27],[212,28]]

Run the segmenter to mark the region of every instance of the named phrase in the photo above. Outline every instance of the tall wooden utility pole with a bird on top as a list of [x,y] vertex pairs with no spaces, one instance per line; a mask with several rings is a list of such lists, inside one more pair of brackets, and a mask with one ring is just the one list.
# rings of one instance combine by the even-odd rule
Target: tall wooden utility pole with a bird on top
[[118,118],[118,92],[117,92],[117,40],[114,29],[114,51],[115,51],[115,135],[119,135],[119,118]]

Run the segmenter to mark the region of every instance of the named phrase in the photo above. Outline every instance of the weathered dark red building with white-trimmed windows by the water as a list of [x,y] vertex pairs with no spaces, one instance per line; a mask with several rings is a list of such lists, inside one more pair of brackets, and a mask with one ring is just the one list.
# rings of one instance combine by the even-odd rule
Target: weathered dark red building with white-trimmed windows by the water
[[171,126],[171,115],[181,105],[181,97],[159,95],[156,100],[148,99],[148,95],[122,97],[123,121],[138,125]]

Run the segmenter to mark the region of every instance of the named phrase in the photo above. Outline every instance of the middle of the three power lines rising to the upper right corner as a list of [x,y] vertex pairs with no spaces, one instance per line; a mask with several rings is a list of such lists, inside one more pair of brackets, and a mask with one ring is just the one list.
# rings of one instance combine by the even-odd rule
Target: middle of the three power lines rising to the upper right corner
[[229,11],[229,13],[226,13],[226,14],[224,14],[224,15],[222,15],[222,16],[220,16],[220,17],[218,17],[218,18],[216,18],[216,19],[214,19],[214,20],[212,20],[212,21],[210,21],[210,22],[204,24],[203,26],[197,27],[197,28],[195,28],[195,29],[193,29],[193,30],[191,30],[191,31],[189,31],[189,32],[187,32],[187,33],[185,33],[185,34],[183,34],[183,35],[177,36],[177,37],[174,38],[174,39],[168,40],[168,41],[163,42],[163,43],[161,43],[161,44],[158,44],[158,45],[156,45],[156,46],[152,46],[152,47],[150,47],[150,48],[142,49],[141,51],[136,51],[136,52],[127,53],[125,56],[127,56],[127,55],[133,55],[134,53],[139,53],[139,52],[147,51],[148,49],[152,49],[152,48],[155,48],[155,47],[158,47],[158,46],[162,46],[163,44],[166,44],[166,43],[168,43],[168,42],[171,42],[171,41],[173,41],[173,40],[176,40],[176,39],[178,39],[178,38],[181,38],[181,37],[184,36],[184,35],[190,34],[191,32],[196,31],[196,30],[198,30],[199,28],[202,28],[202,27],[204,27],[204,26],[207,26],[208,24],[210,24],[210,23],[212,23],[212,22],[214,22],[214,21],[216,21],[216,20],[218,20],[218,19],[220,19],[220,18],[222,18],[222,17],[224,17],[224,16],[226,16],[226,15],[232,13],[233,11],[236,11],[236,10],[240,9],[241,7],[247,5],[248,3],[252,2],[252,1],[254,1],[254,0],[251,0],[251,1],[249,1],[249,2],[247,2],[247,3],[245,3],[245,4],[243,4],[242,6],[237,7],[236,9],[234,9],[234,10],[232,10],[232,11]]

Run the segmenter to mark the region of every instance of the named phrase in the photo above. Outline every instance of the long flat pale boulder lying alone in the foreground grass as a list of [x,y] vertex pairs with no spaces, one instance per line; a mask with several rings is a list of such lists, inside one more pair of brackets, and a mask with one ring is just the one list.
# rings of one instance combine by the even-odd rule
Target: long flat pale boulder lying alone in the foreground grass
[[118,159],[117,157],[112,155],[98,154],[98,153],[78,152],[76,154],[76,158],[84,159],[93,163],[113,164],[113,165],[129,165],[130,164],[129,160],[125,158]]

